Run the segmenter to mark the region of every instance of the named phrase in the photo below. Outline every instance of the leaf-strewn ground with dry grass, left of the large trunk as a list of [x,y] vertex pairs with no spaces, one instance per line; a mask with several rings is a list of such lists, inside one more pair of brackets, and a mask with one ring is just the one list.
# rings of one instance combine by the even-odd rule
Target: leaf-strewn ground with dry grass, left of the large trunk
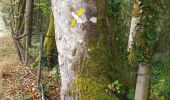
[[[0,37],[0,100],[41,100],[37,89],[37,68],[17,61],[10,35]],[[52,71],[44,68],[43,86],[49,100],[57,100],[59,86]]]

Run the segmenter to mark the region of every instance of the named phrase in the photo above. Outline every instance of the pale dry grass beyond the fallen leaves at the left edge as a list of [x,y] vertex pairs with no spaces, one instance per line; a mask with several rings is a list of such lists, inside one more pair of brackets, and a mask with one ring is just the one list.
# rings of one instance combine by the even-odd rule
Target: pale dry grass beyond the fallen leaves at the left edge
[[14,69],[11,65],[15,63],[17,63],[15,47],[10,35],[6,34],[0,37],[0,99],[4,94],[3,80]]

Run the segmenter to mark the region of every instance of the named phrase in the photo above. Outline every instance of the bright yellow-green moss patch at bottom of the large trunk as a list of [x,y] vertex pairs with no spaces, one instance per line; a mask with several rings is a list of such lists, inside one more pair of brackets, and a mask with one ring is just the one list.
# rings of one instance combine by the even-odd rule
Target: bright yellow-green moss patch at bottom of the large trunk
[[118,98],[106,94],[104,81],[98,82],[87,77],[79,77],[75,80],[75,84],[77,85],[77,95],[81,97],[80,100],[118,100]]

